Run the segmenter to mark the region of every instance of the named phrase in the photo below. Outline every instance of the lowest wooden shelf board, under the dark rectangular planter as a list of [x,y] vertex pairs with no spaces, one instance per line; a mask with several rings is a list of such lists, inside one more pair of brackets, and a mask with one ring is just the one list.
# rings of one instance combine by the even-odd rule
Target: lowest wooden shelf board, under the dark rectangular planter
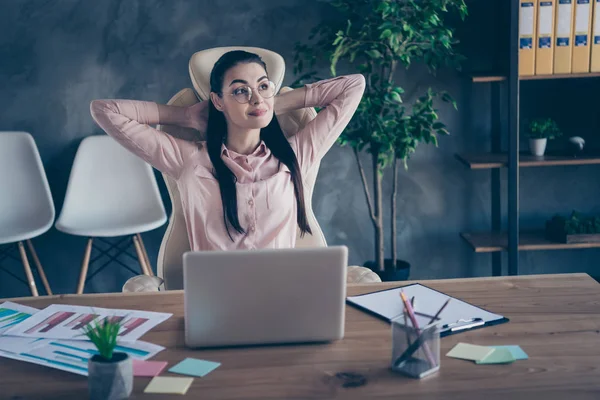
[[[508,249],[504,232],[463,232],[460,236],[476,253],[494,253]],[[600,248],[600,243],[561,243],[546,239],[544,231],[519,233],[519,251]]]

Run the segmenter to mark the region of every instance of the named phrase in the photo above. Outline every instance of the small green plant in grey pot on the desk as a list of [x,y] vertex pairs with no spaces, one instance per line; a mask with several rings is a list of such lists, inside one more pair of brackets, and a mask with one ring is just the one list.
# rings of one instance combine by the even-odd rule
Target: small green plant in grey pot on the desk
[[126,399],[133,389],[133,363],[127,353],[115,352],[120,319],[106,317],[84,327],[98,349],[88,360],[88,388],[92,400]]

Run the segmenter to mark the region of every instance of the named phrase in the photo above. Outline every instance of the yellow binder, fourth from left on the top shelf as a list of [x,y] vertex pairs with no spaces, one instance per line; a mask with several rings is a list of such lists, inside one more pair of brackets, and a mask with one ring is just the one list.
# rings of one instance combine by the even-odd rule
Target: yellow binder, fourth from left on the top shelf
[[573,34],[573,73],[590,72],[590,33],[592,24],[592,3],[590,0],[576,0],[575,32]]

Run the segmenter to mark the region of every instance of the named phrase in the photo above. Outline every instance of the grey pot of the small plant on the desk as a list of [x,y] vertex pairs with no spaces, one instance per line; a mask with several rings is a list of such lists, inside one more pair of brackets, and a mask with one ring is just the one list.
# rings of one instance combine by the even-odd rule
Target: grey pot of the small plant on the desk
[[100,356],[88,360],[91,400],[127,399],[133,390],[133,362],[127,353],[113,353],[112,361]]

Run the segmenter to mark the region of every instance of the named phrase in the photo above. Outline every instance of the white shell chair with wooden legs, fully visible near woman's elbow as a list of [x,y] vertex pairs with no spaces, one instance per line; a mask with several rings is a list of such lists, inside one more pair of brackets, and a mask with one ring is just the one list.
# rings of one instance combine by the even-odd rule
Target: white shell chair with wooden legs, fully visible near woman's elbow
[[[166,221],[165,208],[150,165],[110,136],[89,136],[81,142],[63,208],[56,221],[59,231],[89,238],[77,284],[78,294],[83,293],[94,238],[111,246],[108,250],[97,247],[101,251],[100,257],[113,248],[119,251],[118,254],[129,254],[127,247],[133,243],[142,273],[153,276],[140,233],[156,229]],[[125,238],[117,243],[104,239],[115,237]],[[123,241],[127,241],[125,248],[122,247]],[[130,269],[117,257],[110,257],[109,262],[116,261]]]

